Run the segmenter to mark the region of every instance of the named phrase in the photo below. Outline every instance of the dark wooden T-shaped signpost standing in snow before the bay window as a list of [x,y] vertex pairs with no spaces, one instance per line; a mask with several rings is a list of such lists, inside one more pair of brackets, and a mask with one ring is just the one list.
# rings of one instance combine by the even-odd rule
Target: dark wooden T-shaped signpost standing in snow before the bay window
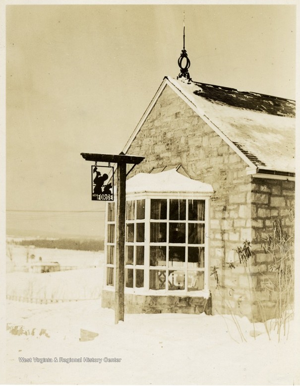
[[[126,165],[133,167],[141,163],[144,157],[127,154],[80,153],[86,161],[109,162],[117,164],[117,248],[116,248],[116,283],[115,283],[115,323],[124,320],[124,284],[125,284],[125,210],[126,210]],[[133,167],[130,169],[132,170]]]

